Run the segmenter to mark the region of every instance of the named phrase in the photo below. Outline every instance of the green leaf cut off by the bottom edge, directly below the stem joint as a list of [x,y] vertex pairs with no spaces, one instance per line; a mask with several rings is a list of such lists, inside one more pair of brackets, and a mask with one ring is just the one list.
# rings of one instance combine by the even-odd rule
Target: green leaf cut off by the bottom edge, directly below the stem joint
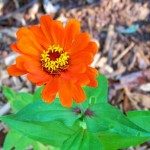
[[62,145],[61,150],[103,150],[98,137],[80,129],[71,135]]

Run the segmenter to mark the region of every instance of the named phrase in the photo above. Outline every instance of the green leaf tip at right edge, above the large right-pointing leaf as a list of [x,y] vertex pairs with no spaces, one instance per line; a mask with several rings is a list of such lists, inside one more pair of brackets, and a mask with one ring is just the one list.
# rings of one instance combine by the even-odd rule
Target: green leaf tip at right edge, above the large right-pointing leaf
[[150,111],[130,111],[127,112],[127,117],[139,127],[150,132]]

